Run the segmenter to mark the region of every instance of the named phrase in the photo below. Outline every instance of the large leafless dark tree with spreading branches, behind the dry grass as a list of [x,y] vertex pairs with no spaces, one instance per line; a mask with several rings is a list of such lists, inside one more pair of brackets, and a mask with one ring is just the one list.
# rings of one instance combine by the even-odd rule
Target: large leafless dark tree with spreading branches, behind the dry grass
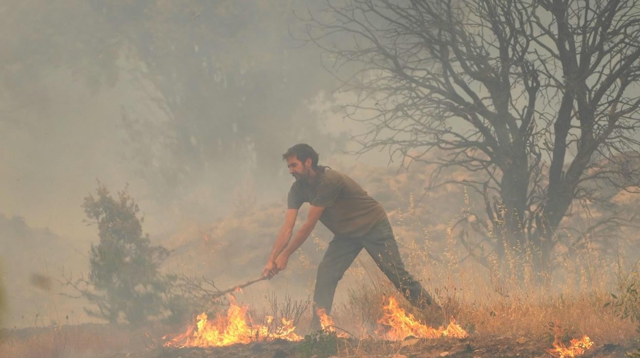
[[[637,1],[326,5],[301,17],[304,39],[358,94],[346,108],[368,124],[358,152],[435,163],[431,188],[447,183],[444,168],[473,172],[456,183],[484,196],[485,245],[499,257],[524,247],[548,272],[554,233],[580,203],[606,200],[604,188],[637,191]],[[613,212],[592,229],[623,219]]]

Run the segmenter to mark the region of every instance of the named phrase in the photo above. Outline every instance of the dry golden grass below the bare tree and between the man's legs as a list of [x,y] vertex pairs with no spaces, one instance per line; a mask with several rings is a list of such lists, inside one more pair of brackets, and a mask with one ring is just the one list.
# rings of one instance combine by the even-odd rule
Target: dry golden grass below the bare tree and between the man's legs
[[[394,217],[405,265],[472,338],[525,338],[548,342],[549,346],[557,332],[565,338],[586,334],[600,346],[628,345],[638,339],[637,323],[621,319],[611,305],[605,307],[611,293],[621,289],[619,257],[602,257],[586,245],[573,257],[559,255],[556,270],[543,284],[536,280],[531,259],[526,256],[518,259],[508,253],[506,262],[497,263],[488,254],[484,258],[492,266],[481,266],[467,257],[451,223],[435,238],[416,218],[412,203]],[[363,338],[373,334],[382,297],[394,289],[367,257],[360,256],[340,290],[347,290],[348,297],[339,300],[333,310],[337,325]],[[414,312],[406,302],[403,307]],[[344,349],[343,354],[367,352],[353,346]]]

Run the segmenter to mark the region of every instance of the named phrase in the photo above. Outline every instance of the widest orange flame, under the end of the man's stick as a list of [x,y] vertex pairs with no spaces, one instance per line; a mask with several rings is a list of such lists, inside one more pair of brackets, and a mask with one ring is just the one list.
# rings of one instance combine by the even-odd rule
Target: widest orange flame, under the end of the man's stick
[[302,337],[294,333],[296,327],[292,320],[282,318],[282,325],[271,331],[273,317],[267,316],[265,325],[254,326],[248,318],[248,307],[241,307],[231,297],[225,316],[218,314],[215,320],[209,320],[206,313],[198,314],[197,322],[188,327],[186,332],[164,343],[168,347],[211,347],[228,346],[236,343],[266,341],[269,339],[286,339],[300,341]]

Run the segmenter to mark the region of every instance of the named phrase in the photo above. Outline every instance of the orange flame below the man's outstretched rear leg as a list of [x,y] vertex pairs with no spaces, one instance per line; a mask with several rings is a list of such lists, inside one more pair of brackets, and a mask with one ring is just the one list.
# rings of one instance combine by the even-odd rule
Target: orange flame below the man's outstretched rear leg
[[447,328],[440,326],[435,329],[423,325],[415,319],[413,314],[406,313],[404,309],[399,307],[393,297],[388,298],[387,304],[383,305],[382,309],[383,316],[378,320],[381,327],[376,333],[390,341],[402,341],[410,336],[415,338],[467,338],[469,336],[460,325],[456,325],[456,320],[453,317]]

